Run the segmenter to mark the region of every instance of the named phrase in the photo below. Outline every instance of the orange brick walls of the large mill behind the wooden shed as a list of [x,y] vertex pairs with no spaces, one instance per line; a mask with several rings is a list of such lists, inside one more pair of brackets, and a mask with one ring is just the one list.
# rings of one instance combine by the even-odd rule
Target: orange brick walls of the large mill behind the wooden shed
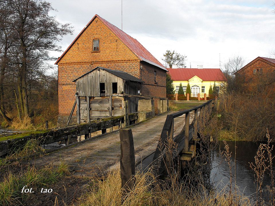
[[[93,51],[93,39],[99,39],[99,52]],[[166,97],[166,71],[141,63],[108,27],[95,18],[58,62],[59,116],[68,116],[74,104],[76,85],[72,81],[97,66],[123,70],[137,78],[142,75],[145,81],[141,89],[143,94]],[[158,84],[154,83],[154,70],[157,71]]]

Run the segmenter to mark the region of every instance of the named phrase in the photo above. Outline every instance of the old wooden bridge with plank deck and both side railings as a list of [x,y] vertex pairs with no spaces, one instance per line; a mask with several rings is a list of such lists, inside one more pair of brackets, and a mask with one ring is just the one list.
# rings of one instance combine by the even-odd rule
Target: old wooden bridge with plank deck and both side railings
[[[170,161],[172,154],[166,152],[166,146],[169,146],[168,142],[170,142],[169,138],[178,144],[177,155],[180,159],[192,158],[194,146],[190,143],[197,137],[197,127],[194,125],[197,125],[198,115],[205,116],[206,112],[211,112],[214,102],[214,100],[209,100],[198,107],[182,112],[173,113],[170,111],[127,127],[131,128],[133,134],[135,166],[146,171],[151,166],[156,168],[156,165],[160,165],[160,168],[156,168],[159,174],[163,173],[167,167],[173,168],[172,161]],[[129,116],[129,121],[135,122],[136,120],[137,114]],[[1,151],[6,151],[10,145],[19,144],[30,137],[42,138],[44,144],[48,144],[60,140],[70,143],[70,138],[85,135],[85,140],[68,144],[68,146],[48,152],[42,157],[35,157],[30,160],[30,163],[43,167],[64,162],[71,165],[76,176],[98,176],[119,165],[121,155],[119,130],[92,138],[89,138],[89,134],[98,130],[106,132],[106,128],[119,125],[121,122],[123,122],[123,116],[56,130],[45,130],[40,133],[34,132],[21,139],[15,138],[4,141],[5,144],[2,144],[3,149]],[[167,134],[169,138],[167,138]],[[45,139],[43,136],[47,138]]]

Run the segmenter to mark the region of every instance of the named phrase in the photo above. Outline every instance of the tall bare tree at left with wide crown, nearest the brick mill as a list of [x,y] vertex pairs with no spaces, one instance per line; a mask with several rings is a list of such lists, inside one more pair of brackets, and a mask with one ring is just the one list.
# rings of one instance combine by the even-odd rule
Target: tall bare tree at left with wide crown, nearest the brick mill
[[[13,55],[11,64],[17,65],[18,101],[23,116],[29,116],[28,78],[30,73],[51,60],[48,51],[61,51],[56,42],[61,37],[72,33],[68,23],[62,25],[56,17],[50,16],[54,10],[50,3],[39,0],[1,0],[0,11],[9,11],[6,16],[6,28],[13,31],[14,43],[9,52]],[[40,64],[40,66],[38,66]],[[35,67],[33,67],[35,66]]]

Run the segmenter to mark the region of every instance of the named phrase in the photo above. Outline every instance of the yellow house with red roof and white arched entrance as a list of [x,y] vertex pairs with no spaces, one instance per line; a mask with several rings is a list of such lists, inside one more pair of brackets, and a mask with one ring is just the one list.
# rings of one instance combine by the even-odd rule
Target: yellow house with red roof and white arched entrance
[[209,95],[210,85],[216,86],[217,91],[224,88],[227,80],[220,69],[200,69],[200,68],[168,68],[169,74],[172,77],[174,90],[178,93],[180,83],[182,84],[184,94],[187,84],[191,88],[191,96],[201,94]]

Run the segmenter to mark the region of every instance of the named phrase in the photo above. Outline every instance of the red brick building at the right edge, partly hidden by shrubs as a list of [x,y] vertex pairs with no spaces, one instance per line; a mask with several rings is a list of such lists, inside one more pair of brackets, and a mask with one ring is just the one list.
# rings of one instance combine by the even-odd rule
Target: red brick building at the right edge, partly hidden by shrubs
[[238,70],[235,75],[247,90],[255,90],[259,86],[269,86],[274,89],[275,59],[257,57]]

